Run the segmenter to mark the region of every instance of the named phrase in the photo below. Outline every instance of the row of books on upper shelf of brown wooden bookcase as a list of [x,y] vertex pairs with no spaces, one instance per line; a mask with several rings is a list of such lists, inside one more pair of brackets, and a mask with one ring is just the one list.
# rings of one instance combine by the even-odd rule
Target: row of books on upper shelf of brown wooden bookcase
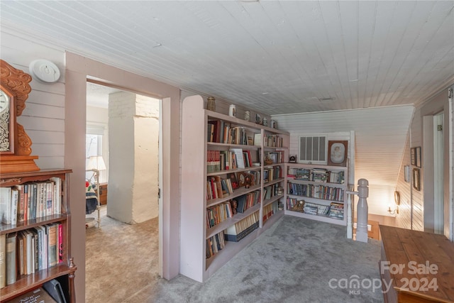
[[0,221],[3,224],[61,214],[61,179],[0,187]]

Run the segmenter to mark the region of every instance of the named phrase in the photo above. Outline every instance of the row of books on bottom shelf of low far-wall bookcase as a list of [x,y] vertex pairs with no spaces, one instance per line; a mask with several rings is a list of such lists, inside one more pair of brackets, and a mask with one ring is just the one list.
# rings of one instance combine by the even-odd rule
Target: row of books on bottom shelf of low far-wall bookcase
[[291,211],[302,211],[305,214],[315,216],[328,216],[333,219],[343,220],[344,208],[342,203],[331,202],[330,205],[304,202],[301,200],[287,197],[287,209]]

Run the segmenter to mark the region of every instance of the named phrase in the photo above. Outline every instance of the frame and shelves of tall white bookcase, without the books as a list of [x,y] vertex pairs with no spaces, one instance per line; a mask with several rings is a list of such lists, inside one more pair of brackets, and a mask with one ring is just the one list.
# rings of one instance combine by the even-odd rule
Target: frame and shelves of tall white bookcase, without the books
[[[241,128],[246,133],[246,137],[260,139],[268,136],[282,138],[282,147],[272,147],[265,145],[265,140],[260,140],[260,145],[231,144],[220,142],[208,142],[209,121],[223,121],[231,127]],[[215,111],[204,109],[204,99],[201,96],[192,96],[184,99],[182,104],[182,197],[181,197],[181,240],[180,240],[180,272],[182,275],[193,280],[204,282],[216,270],[221,268],[233,255],[236,255],[245,246],[251,243],[257,236],[267,228],[275,224],[277,219],[284,215],[284,191],[286,168],[284,162],[288,159],[289,133],[279,131],[267,126],[244,121],[236,117],[219,114]],[[250,153],[255,165],[245,168],[229,170],[215,170],[207,172],[207,153],[209,150],[230,150],[231,148],[241,148]],[[266,155],[280,155],[282,162],[265,164],[263,159]],[[259,162],[259,160],[262,160]],[[231,167],[229,167],[231,168]],[[267,170],[273,170],[273,177],[264,180],[263,176]],[[279,172],[277,175],[276,172]],[[260,173],[258,182],[249,188],[240,187],[233,190],[228,197],[208,199],[207,197],[207,178],[221,177],[226,179],[228,173],[236,172]],[[270,172],[268,172],[270,174]],[[274,187],[276,190],[268,197],[265,190]],[[282,187],[282,192],[277,188]],[[207,207],[226,203],[231,199],[238,198],[243,194],[260,191],[260,203],[250,206],[243,213],[233,215],[215,226],[207,226]],[[282,207],[275,207],[270,212],[270,204],[276,206],[276,202],[281,202]],[[273,204],[274,203],[274,204]],[[225,246],[217,253],[206,257],[207,239],[216,234],[226,231],[234,226],[241,219],[258,212],[258,228],[248,233],[247,236],[238,242],[225,241]]]

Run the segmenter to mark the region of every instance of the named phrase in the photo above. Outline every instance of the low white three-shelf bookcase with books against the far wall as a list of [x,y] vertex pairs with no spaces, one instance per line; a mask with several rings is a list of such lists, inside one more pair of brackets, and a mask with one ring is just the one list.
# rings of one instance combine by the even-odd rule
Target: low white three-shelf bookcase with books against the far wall
[[348,167],[287,163],[285,214],[347,224]]

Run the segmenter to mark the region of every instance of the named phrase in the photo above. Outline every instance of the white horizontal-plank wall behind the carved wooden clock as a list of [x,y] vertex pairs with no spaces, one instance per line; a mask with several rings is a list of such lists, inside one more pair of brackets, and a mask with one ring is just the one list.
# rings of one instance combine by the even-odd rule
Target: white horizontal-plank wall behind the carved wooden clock
[[26,109],[18,117],[32,141],[31,155],[40,169],[63,168],[65,158],[65,52],[59,48],[24,40],[1,29],[1,59],[28,73],[28,65],[36,59],[54,62],[62,75],[58,82],[43,84],[33,79]]

